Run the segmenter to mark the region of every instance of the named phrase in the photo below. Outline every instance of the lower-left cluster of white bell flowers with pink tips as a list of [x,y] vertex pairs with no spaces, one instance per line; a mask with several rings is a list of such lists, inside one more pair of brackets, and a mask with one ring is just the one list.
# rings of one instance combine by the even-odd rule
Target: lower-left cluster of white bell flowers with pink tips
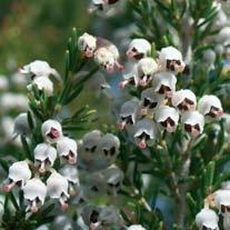
[[[16,122],[17,129],[20,126],[24,128],[23,119],[22,114],[17,119],[20,121]],[[14,186],[20,187],[31,212],[38,211],[47,196],[57,199],[61,208],[66,210],[67,200],[70,194],[74,194],[74,187],[78,183],[78,170],[73,167],[78,157],[77,142],[62,134],[62,127],[57,120],[44,121],[41,126],[41,134],[43,142],[37,144],[33,150],[34,161],[14,162],[9,168],[9,182],[3,186],[3,191],[9,192]],[[59,172],[53,169],[58,157],[62,164],[69,163],[63,166]],[[73,179],[71,174],[74,174]]]

